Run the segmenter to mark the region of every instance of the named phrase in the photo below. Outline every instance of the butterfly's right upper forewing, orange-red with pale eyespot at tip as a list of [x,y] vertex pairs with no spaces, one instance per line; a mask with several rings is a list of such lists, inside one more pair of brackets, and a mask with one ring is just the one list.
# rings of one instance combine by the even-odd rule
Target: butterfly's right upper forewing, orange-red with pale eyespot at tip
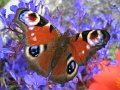
[[70,50],[76,62],[86,64],[95,52],[104,47],[110,38],[106,30],[87,30],[78,33],[71,38]]

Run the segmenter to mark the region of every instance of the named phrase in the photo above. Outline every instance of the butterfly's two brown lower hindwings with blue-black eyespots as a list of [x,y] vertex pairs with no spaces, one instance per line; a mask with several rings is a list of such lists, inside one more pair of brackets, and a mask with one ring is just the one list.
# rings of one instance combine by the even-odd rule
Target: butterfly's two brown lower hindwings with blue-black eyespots
[[58,49],[56,42],[49,43],[47,48],[45,47],[40,45],[25,48],[29,68],[42,76],[50,76],[52,81],[58,83],[64,84],[73,79],[77,73],[78,64],[68,48],[64,48],[65,51]]

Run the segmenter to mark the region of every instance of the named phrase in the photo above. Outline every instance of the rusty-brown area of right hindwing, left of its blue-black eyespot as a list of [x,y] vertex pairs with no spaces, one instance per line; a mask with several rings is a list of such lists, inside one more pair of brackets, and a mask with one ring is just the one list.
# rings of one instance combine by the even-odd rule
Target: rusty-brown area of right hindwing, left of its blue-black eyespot
[[51,72],[50,79],[58,82],[65,83],[67,82],[67,56],[62,55],[62,57],[58,60],[57,65]]

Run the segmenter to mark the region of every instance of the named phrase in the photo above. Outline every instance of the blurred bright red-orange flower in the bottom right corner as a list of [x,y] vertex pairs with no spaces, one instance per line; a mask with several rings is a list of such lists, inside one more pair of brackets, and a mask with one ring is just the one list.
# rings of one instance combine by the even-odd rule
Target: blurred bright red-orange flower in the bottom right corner
[[101,64],[103,71],[94,75],[89,83],[89,90],[120,90],[120,49],[116,52],[117,65],[106,66],[108,60]]

